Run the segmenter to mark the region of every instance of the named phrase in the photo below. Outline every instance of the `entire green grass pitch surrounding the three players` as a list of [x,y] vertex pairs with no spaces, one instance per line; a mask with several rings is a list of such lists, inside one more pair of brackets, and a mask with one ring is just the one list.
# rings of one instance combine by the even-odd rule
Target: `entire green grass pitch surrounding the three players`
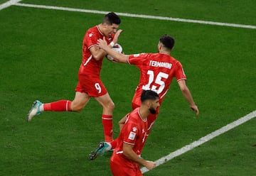
[[[195,1],[186,4],[189,11],[182,1],[147,1],[154,7],[135,6],[136,1],[114,6],[102,1],[21,2],[256,24],[255,1]],[[238,11],[238,4],[245,11]],[[206,11],[210,6],[218,8]],[[228,11],[218,11],[225,7]],[[100,14],[21,6],[0,11],[0,175],[111,175],[110,153],[88,160],[90,150],[103,140],[102,109],[94,99],[80,114],[43,112],[26,122],[35,99],[73,99],[83,35],[101,19]],[[119,43],[127,54],[156,52],[160,35],[174,36],[172,55],[183,64],[201,111],[200,116],[190,111],[174,80],[145,145],[145,159],[157,160],[255,110],[255,30],[129,17],[122,17],[120,28]],[[115,103],[117,136],[117,121],[131,110],[139,72],[105,60],[102,81]],[[253,175],[255,132],[253,119],[145,175]]]

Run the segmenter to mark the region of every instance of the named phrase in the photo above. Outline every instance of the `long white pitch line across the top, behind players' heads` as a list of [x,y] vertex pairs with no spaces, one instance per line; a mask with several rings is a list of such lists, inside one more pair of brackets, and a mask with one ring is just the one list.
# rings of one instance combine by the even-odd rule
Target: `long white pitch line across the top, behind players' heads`
[[[74,9],[74,8],[68,8],[68,7],[44,6],[44,5],[36,5],[36,4],[17,3],[17,4],[14,4],[14,5],[15,6],[33,7],[33,8],[39,8],[39,9],[54,9],[54,10],[61,10],[61,11],[78,11],[78,12],[84,12],[84,13],[98,13],[98,14],[109,13],[109,11],[94,11],[94,10],[87,10],[87,9]],[[158,20],[165,20],[165,21],[179,21],[179,22],[184,22],[184,23],[201,23],[201,24],[215,25],[215,26],[229,26],[229,27],[235,27],[235,28],[256,29],[256,26],[244,25],[244,24],[235,24],[235,23],[220,23],[220,22],[214,22],[214,21],[199,21],[199,20],[191,20],[191,19],[183,19],[183,18],[172,18],[172,17],[164,17],[164,16],[146,16],[146,15],[141,15],[141,14],[119,13],[119,12],[117,12],[117,15],[134,17],[134,18],[148,18],[148,19],[158,19]]]

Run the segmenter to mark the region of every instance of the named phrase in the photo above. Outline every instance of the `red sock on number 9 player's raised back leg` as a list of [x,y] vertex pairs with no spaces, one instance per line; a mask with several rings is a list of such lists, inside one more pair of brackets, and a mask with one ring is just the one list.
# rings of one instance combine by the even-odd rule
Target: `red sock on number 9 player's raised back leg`
[[43,111],[71,111],[71,101],[63,99],[49,104],[43,104]]

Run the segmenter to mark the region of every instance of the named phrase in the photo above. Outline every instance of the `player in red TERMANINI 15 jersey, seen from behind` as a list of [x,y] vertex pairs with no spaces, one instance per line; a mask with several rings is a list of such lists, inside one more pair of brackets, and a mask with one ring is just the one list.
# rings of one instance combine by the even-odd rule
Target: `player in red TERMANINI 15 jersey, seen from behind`
[[[107,47],[105,39],[99,39],[98,44],[100,48],[114,58],[114,61],[128,63],[129,65],[135,65],[139,68],[141,74],[139,85],[137,86],[132,99],[132,109],[140,106],[140,94],[142,94],[143,90],[148,89],[159,94],[159,103],[161,104],[169,90],[172,79],[176,77],[176,81],[178,82],[183,97],[188,101],[191,109],[196,111],[196,115],[199,114],[198,106],[196,106],[191,92],[186,86],[186,75],[183,71],[181,62],[170,55],[171,50],[174,48],[174,38],[169,35],[162,35],[159,38],[159,43],[157,45],[159,53],[141,53],[135,55],[124,55],[111,50]],[[151,131],[158,114],[159,108],[157,109],[156,114],[149,115],[149,131]],[[125,117],[119,121],[120,128],[122,128],[124,122]],[[116,145],[117,141],[112,141],[111,143],[100,142],[98,148],[90,154],[90,159],[95,159],[97,155],[103,155],[105,151],[115,148]]]

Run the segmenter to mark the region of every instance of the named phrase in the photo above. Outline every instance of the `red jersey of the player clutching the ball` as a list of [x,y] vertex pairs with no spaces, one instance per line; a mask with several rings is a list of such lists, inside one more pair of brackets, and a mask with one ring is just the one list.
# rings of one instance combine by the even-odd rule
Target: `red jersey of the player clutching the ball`
[[[95,60],[92,53],[90,53],[90,48],[97,45],[97,40],[100,38],[103,39],[104,36],[105,35],[101,33],[98,26],[88,29],[85,33],[85,37],[82,41],[82,64],[80,66],[79,74],[100,77],[100,70],[104,57],[100,60]],[[114,34],[110,37],[105,36],[105,38],[108,45],[112,42]]]

